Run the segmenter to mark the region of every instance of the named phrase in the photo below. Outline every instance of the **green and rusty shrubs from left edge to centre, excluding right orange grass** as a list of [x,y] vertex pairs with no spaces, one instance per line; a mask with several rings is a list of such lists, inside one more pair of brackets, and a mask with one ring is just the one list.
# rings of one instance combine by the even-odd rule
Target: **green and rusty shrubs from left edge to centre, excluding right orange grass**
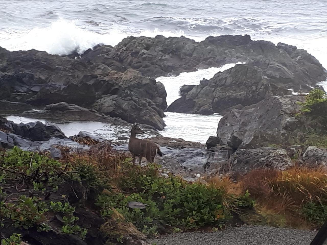
[[[141,168],[133,165],[130,158],[116,153],[68,154],[61,161],[55,161],[46,155],[15,147],[0,154],[0,163],[0,181],[6,186],[1,192],[4,197],[2,221],[23,229],[36,228],[39,232],[51,230],[82,238],[87,236],[87,229],[78,225],[76,207],[65,195],[60,196],[60,200],[58,195],[57,200],[44,198],[49,192],[62,190],[65,183],[71,181],[83,184],[87,192],[91,188],[96,191],[94,211],[111,222],[111,228],[103,225],[102,230],[106,231],[108,239],[114,237],[116,241],[123,236],[112,227],[131,223],[138,232],[151,236],[206,225],[222,228],[241,209],[254,205],[249,192],[229,192],[226,186],[232,184],[230,180],[224,184],[188,183],[177,176],[160,176],[157,165]],[[21,193],[7,195],[7,187],[14,186],[21,188]],[[71,189],[68,191],[72,192]],[[141,203],[144,208],[130,208],[131,201]],[[51,217],[61,225],[54,225]],[[123,219],[124,225],[117,225],[117,220],[113,222],[114,217]]]

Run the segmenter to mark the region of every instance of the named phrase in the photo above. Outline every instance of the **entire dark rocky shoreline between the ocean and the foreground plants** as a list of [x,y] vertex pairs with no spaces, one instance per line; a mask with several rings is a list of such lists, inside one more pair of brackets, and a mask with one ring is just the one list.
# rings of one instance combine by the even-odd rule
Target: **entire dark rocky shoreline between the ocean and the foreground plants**
[[[156,77],[237,62],[242,64],[199,85],[178,88],[181,97],[167,108],[165,88]],[[143,138],[161,146],[163,157],[155,158],[161,176],[233,181],[255,169],[326,168],[327,98],[317,86],[326,76],[305,50],[252,41],[249,35],[202,42],[128,37],[115,47],[97,45],[68,56],[0,47],[0,148],[47,151],[54,159],[67,147],[103,154],[110,147],[113,155],[129,154],[130,126],[138,122],[146,131]],[[223,118],[216,135],[201,144],[163,137],[165,111]],[[6,119],[10,115],[47,123],[14,123]],[[84,131],[67,137],[54,123],[68,122],[105,123],[115,139]]]

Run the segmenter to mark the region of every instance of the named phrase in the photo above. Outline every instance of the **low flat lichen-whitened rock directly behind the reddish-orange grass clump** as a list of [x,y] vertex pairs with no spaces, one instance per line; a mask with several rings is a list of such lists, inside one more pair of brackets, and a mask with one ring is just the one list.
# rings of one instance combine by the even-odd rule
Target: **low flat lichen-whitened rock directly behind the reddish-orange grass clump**
[[231,156],[230,161],[232,171],[236,172],[248,172],[257,168],[284,170],[292,166],[285,149],[272,147],[239,149]]

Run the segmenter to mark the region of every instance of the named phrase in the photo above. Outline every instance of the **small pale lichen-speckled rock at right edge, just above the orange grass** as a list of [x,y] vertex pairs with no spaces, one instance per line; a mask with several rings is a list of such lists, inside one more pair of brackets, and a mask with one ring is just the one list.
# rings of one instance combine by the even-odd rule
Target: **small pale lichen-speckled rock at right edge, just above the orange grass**
[[309,146],[302,155],[301,160],[312,167],[327,166],[327,149]]

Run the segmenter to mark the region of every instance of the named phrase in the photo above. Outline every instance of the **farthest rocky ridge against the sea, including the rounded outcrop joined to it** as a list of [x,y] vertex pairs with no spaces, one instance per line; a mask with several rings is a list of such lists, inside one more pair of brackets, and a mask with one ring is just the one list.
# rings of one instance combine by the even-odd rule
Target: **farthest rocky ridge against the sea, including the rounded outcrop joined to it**
[[208,37],[202,42],[185,37],[128,37],[113,48],[98,46],[89,50],[81,59],[117,67],[111,61],[115,60],[126,69],[157,77],[247,63],[204,79],[198,86],[183,86],[182,97],[167,109],[181,113],[220,113],[238,104],[258,103],[268,92],[307,92],[310,86],[326,79],[322,65],[305,50],[284,43],[252,41],[249,35]]

